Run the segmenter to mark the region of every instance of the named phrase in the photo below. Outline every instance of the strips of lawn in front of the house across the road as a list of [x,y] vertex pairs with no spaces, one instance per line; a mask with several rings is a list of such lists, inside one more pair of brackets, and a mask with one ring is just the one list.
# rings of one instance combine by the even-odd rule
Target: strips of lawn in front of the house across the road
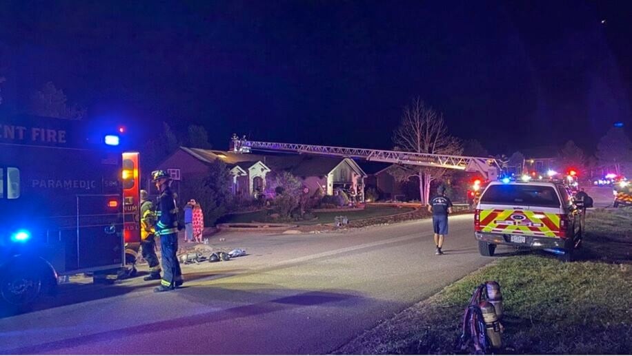
[[[389,216],[398,213],[406,213],[408,211],[413,211],[414,209],[408,207],[384,207],[384,206],[373,206],[367,205],[363,210],[357,211],[323,211],[319,213],[314,213],[317,217],[315,220],[308,221],[297,221],[292,222],[293,224],[299,225],[315,225],[315,224],[330,224],[334,222],[334,218],[336,216],[346,216],[349,221],[354,220],[362,220],[368,218],[377,218],[381,216]],[[268,220],[267,211],[259,210],[253,211],[250,213],[238,213],[238,214],[229,214],[227,216],[222,217],[218,220],[218,223],[243,223],[243,222],[266,222]]]

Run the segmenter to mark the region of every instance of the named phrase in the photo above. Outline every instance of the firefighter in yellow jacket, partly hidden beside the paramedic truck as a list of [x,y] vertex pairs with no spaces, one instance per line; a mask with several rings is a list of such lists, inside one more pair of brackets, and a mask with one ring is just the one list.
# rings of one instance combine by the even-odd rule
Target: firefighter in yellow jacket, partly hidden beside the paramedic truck
[[146,190],[141,190],[141,248],[143,258],[149,264],[150,274],[143,278],[146,281],[160,279],[160,263],[156,255],[156,213],[154,204],[148,200]]

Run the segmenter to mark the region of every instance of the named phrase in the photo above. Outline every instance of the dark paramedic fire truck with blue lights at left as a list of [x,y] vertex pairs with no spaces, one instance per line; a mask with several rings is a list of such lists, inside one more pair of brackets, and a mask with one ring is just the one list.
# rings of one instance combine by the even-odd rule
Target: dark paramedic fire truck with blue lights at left
[[121,132],[0,116],[0,303],[28,306],[60,276],[97,278],[134,262],[139,157],[123,152]]

